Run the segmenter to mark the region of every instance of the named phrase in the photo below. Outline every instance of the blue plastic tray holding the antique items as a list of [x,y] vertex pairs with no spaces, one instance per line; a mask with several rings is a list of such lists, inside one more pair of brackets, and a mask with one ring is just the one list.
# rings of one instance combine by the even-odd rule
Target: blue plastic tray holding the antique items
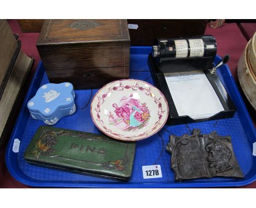
[[[141,79],[153,84],[147,62],[150,51],[150,47],[131,47],[130,78]],[[216,57],[216,62],[218,62],[219,59],[219,57]],[[137,142],[132,177],[129,182],[119,182],[62,172],[61,170],[31,166],[24,160],[23,154],[34,133],[39,126],[45,125],[42,121],[32,119],[26,107],[27,101],[36,94],[40,85],[49,82],[43,65],[40,63],[22,105],[5,154],[9,172],[16,180],[28,186],[37,187],[165,188],[248,185],[256,179],[256,157],[252,155],[253,143],[256,142],[255,129],[228,66],[222,66],[218,74],[222,81],[224,81],[224,85],[237,107],[234,117],[231,119],[205,121],[187,125],[164,126],[164,128],[154,136]],[[77,103],[77,112],[70,117],[62,118],[55,126],[85,132],[101,133],[90,117],[91,97],[96,91],[96,89],[76,90],[75,102]],[[186,132],[189,133],[195,127],[201,129],[202,133],[217,131],[219,135],[231,136],[235,155],[245,175],[245,179],[212,178],[174,182],[174,174],[170,166],[171,156],[165,150],[169,135],[171,133],[176,135],[181,135]],[[13,152],[15,138],[21,141],[18,153]],[[162,178],[143,179],[142,166],[152,164],[161,165]]]

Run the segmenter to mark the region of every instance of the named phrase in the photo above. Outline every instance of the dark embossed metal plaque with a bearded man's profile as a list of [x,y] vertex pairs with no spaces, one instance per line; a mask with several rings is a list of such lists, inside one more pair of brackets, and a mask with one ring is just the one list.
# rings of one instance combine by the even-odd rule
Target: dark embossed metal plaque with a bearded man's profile
[[201,130],[193,129],[191,135],[171,135],[166,149],[172,154],[175,180],[215,176],[244,178],[230,136],[219,136],[216,131],[201,134]]

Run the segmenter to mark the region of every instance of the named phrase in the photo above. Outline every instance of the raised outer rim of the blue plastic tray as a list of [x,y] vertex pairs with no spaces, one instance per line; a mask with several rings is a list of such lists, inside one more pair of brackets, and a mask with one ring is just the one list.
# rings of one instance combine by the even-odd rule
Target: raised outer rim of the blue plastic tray
[[[131,46],[130,53],[131,54],[144,54],[149,53],[152,50],[152,47],[149,46]],[[141,51],[143,53],[141,53]],[[216,56],[218,59],[220,57]],[[20,122],[22,122],[22,112],[24,111],[24,108],[26,107],[26,103],[28,101],[29,92],[31,91],[33,87],[33,83],[36,80],[39,72],[39,68],[42,65],[42,61],[39,62],[36,71],[34,72],[34,76],[32,78],[32,81],[30,83],[30,87],[28,88],[28,93],[24,99],[24,103],[22,104],[22,107],[20,109],[20,113],[18,115],[18,118],[16,120],[13,132],[11,133],[11,137],[9,139],[7,149],[5,151],[5,164],[9,170],[9,173],[19,182],[24,183],[25,185],[32,186],[32,187],[76,187],[76,188],[205,188],[205,187],[239,187],[239,186],[246,186],[250,183],[256,181],[256,173],[252,178],[249,178],[247,180],[238,181],[238,182],[174,182],[174,183],[85,183],[85,182],[79,182],[79,183],[73,183],[73,182],[66,182],[66,181],[40,181],[40,180],[27,180],[22,177],[19,173],[16,173],[13,166],[11,165],[9,152],[12,150],[12,144],[15,139],[16,131],[18,130]],[[228,68],[228,66],[226,66]],[[249,123],[249,129],[253,132],[255,138],[256,138],[256,130],[254,129],[251,117],[249,116],[249,113],[247,111],[247,108],[245,106],[245,103],[242,100],[242,97],[240,95],[240,92],[237,89],[236,83],[234,78],[231,75],[231,72],[228,68],[229,76],[231,78],[232,87],[235,88],[236,94],[238,97],[238,102],[240,102],[242,106],[242,110],[246,115],[247,121]]]

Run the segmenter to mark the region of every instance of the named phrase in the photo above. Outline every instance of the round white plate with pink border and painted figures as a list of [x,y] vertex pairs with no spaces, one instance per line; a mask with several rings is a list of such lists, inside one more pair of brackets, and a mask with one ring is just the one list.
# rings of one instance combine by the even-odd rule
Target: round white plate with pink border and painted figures
[[110,82],[91,102],[91,118],[103,133],[115,139],[146,139],[165,125],[168,105],[153,85],[137,79]]

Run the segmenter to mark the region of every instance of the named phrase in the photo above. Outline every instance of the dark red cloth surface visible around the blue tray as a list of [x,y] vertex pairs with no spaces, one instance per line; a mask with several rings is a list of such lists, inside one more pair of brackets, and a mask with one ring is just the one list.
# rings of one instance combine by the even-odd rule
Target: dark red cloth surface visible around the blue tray
[[[17,20],[8,20],[8,22],[13,32],[18,34],[19,39],[22,41],[21,50],[25,52],[28,56],[33,57],[35,60],[30,76],[28,77],[26,82],[26,85],[29,85],[34,71],[36,70],[36,67],[40,61],[40,57],[36,48],[36,42],[39,33],[22,33]],[[228,65],[232,76],[235,78],[235,81],[238,82],[237,63],[243,49],[246,47],[247,44],[247,40],[245,36],[243,36],[240,28],[236,25],[236,23],[229,23],[217,29],[213,29],[207,26],[205,34],[213,35],[216,38],[218,46],[217,54],[219,56],[223,57],[225,54],[230,55]],[[239,84],[238,88],[240,88]],[[242,91],[241,94],[243,94]],[[249,105],[248,102],[246,102],[246,104],[252,116],[255,112],[251,109],[252,107]],[[9,174],[4,161],[5,146],[0,150],[0,188],[30,188],[16,181]],[[251,185],[245,186],[245,188],[256,188],[256,182],[252,183]]]

